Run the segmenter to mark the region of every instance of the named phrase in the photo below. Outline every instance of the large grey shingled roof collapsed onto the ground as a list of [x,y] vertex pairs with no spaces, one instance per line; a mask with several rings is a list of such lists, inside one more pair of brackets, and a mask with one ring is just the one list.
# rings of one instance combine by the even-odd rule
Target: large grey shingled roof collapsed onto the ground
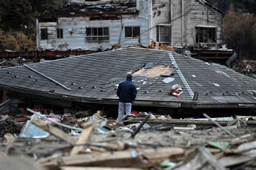
[[[118,104],[116,89],[127,72],[133,73],[133,83],[138,89],[133,105],[187,108],[256,105],[253,78],[170,51],[138,48],[1,69],[0,88],[83,103]],[[179,97],[167,94],[175,84],[182,87]]]

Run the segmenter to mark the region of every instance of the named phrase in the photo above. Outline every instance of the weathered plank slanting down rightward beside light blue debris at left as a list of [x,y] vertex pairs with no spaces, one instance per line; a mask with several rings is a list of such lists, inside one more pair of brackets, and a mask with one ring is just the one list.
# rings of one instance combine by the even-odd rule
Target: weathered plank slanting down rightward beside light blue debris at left
[[63,132],[62,130],[60,130],[59,128],[55,127],[55,126],[51,126],[46,124],[44,121],[42,120],[32,120],[31,121],[32,124],[42,128],[43,130],[49,132],[52,135],[55,135],[55,137],[62,139],[66,142],[69,142],[70,144],[76,144],[76,138],[75,137],[70,137],[68,134],[66,134],[65,132]]

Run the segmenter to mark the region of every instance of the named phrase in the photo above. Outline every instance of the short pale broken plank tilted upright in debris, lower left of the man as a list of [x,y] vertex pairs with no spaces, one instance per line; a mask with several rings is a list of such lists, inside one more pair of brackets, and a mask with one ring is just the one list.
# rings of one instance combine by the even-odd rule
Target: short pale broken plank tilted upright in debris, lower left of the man
[[[85,130],[83,130],[83,132],[80,134],[80,137],[79,137],[78,141],[76,142],[77,145],[89,142],[90,137],[94,130],[92,123],[86,123],[82,126],[87,127],[87,128],[85,128]],[[70,155],[79,154],[79,152],[82,151],[83,149],[84,149],[84,146],[75,146],[72,148]]]

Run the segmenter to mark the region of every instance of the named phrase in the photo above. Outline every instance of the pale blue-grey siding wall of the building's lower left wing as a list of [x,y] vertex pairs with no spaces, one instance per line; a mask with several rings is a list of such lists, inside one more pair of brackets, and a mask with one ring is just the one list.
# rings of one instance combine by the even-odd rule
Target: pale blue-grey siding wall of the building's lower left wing
[[[150,0],[149,0],[150,1]],[[141,0],[139,15],[123,15],[122,19],[90,21],[89,17],[62,17],[57,22],[40,22],[38,26],[38,47],[43,49],[88,49],[105,50],[112,44],[122,46],[149,43],[149,11],[147,0]],[[125,38],[125,26],[140,26],[141,38]],[[86,27],[109,27],[110,39],[108,42],[86,42]],[[41,39],[41,29],[48,29],[48,39]],[[57,29],[63,29],[63,38],[57,38]]]

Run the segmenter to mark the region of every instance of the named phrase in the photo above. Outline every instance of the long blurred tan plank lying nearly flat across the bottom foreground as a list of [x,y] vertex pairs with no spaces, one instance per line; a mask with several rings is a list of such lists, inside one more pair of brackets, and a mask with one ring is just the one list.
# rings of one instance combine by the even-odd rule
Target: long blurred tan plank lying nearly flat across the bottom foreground
[[[54,166],[97,166],[97,167],[132,167],[147,168],[160,161],[184,156],[183,148],[161,147],[140,150],[116,151],[113,153],[79,154],[52,159],[44,162],[46,167]],[[146,158],[146,159],[145,159]]]

